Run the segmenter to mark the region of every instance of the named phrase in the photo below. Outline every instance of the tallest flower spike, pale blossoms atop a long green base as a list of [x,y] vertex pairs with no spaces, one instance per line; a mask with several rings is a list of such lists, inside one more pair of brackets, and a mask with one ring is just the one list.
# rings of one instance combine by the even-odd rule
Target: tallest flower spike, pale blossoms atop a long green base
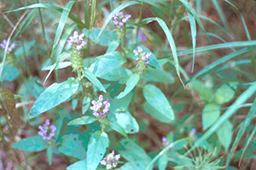
[[83,33],[79,35],[78,31],[74,31],[73,37],[69,37],[69,40],[67,40],[67,42],[72,45],[71,59],[73,71],[78,71],[79,78],[81,78],[80,72],[83,70],[83,57],[81,49],[84,48],[84,45],[86,44],[83,37]]

